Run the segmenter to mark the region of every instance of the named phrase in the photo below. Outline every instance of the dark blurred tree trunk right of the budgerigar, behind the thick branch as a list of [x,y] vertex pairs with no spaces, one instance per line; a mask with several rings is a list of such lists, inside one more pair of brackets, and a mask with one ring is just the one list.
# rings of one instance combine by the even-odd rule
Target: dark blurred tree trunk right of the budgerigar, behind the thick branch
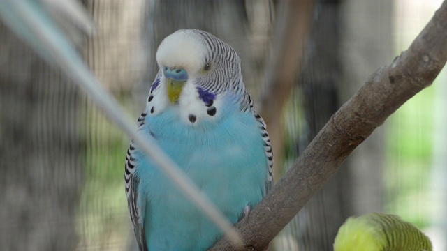
[[[340,1],[318,1],[314,10],[316,14],[312,19],[298,82],[298,92],[301,94],[298,102],[305,114],[306,125],[296,143],[300,146],[299,153],[305,150],[342,105],[338,98],[343,86],[340,5]],[[295,155],[297,157],[298,154]],[[292,225],[296,229],[291,229],[291,232],[297,238],[299,250],[332,250],[339,226],[352,215],[351,175],[346,163],[344,166],[293,219]]]

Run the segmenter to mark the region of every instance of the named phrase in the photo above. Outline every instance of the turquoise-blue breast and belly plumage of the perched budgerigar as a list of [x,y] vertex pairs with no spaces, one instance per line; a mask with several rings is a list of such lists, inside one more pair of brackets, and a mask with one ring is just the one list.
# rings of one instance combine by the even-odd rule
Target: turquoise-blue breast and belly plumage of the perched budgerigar
[[[157,116],[147,116],[140,134],[159,144],[226,218],[236,223],[245,206],[253,208],[265,195],[268,164],[254,115],[227,103],[218,121],[198,121],[197,126],[182,123],[170,107]],[[148,136],[149,131],[154,137]],[[139,152],[135,157],[135,176],[140,179],[138,207],[145,208],[149,250],[206,250],[221,238],[221,231],[151,160]]]

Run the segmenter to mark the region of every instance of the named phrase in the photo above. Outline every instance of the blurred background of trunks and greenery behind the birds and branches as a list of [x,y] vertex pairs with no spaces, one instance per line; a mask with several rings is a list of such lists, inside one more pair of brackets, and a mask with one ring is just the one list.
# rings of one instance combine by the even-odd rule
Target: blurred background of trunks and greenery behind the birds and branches
[[[268,124],[279,180],[367,77],[409,47],[442,1],[302,2],[83,0],[96,35],[66,30],[132,121],[144,109],[163,38],[196,28],[232,45]],[[288,36],[295,25],[284,22],[298,21],[301,35]],[[295,41],[282,48],[294,52],[284,62],[300,61],[293,84],[272,96],[281,83],[267,79],[281,39]],[[447,250],[445,82],[443,70],[361,144],[270,250],[332,250],[346,218],[374,211],[400,215],[432,238],[435,251]],[[274,113],[265,100],[279,104]],[[135,250],[124,192],[129,142],[0,22],[0,250]]]

